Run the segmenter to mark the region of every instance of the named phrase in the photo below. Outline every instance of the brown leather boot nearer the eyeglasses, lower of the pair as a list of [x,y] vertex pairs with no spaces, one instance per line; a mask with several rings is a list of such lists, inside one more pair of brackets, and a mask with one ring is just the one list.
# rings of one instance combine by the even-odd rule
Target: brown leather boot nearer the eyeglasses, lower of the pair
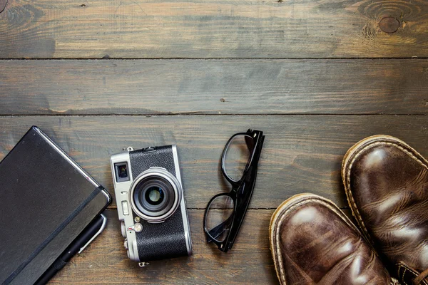
[[270,250],[282,285],[390,284],[384,265],[339,208],[317,195],[295,195],[270,221]]

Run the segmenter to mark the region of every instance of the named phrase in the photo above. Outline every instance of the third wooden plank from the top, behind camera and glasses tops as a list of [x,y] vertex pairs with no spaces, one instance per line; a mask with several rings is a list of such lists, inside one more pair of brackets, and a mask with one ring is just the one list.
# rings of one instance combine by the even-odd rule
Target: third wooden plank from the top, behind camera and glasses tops
[[342,157],[369,135],[397,136],[428,156],[425,115],[6,116],[0,117],[0,159],[31,125],[45,130],[111,193],[113,153],[128,146],[178,145],[192,209],[205,208],[211,197],[229,189],[219,169],[221,152],[231,135],[250,127],[266,135],[251,208],[274,209],[302,192],[346,207]]

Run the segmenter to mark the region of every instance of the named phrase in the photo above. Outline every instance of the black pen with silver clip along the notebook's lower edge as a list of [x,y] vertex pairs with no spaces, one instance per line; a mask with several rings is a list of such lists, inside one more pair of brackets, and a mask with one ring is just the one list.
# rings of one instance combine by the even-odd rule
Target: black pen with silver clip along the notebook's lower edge
[[42,285],[48,283],[48,281],[54,277],[56,272],[61,270],[70,259],[76,254],[83,252],[83,249],[88,247],[89,244],[98,237],[103,229],[106,227],[107,218],[100,214],[98,217],[93,219],[93,221],[88,224],[88,226],[83,229],[83,232],[73,240],[73,242],[67,247],[67,249],[61,254],[56,261],[45,271],[45,273],[34,283],[35,285]]

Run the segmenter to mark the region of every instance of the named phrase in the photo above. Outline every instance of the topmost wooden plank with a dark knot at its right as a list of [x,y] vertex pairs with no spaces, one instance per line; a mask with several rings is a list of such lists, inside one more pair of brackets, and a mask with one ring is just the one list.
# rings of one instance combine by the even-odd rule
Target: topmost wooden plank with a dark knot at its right
[[0,58],[427,57],[424,0],[38,0],[0,14]]

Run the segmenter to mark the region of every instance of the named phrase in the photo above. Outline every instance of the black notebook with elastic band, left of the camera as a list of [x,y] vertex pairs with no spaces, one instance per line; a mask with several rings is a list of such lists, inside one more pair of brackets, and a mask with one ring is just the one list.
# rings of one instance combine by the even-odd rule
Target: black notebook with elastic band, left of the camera
[[0,284],[34,284],[110,201],[32,127],[0,162]]

